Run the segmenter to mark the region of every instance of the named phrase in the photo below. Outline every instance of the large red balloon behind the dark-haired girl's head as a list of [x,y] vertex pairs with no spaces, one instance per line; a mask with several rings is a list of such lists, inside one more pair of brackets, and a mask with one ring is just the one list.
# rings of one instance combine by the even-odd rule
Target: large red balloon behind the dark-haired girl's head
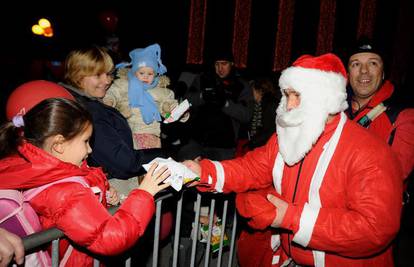
[[75,98],[62,86],[44,80],[24,83],[14,89],[7,99],[6,116],[11,120],[16,115],[24,115],[42,100],[52,97]]

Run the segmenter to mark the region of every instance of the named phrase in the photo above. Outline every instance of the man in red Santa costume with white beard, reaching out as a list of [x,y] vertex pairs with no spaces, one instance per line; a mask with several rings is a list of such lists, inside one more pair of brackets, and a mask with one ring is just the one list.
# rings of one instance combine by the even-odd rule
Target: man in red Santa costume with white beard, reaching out
[[[273,257],[258,266],[393,266],[401,169],[383,141],[344,114],[346,77],[334,54],[299,57],[279,79],[277,135],[265,146],[184,162],[201,177],[197,189],[246,192],[237,208],[249,224],[279,231],[268,243]],[[263,253],[254,243],[250,252]]]

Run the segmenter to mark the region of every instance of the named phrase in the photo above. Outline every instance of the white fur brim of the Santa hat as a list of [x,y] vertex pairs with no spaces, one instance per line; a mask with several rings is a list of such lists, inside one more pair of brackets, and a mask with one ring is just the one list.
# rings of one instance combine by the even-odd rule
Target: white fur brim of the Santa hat
[[[279,79],[281,90],[293,89],[301,94],[301,101],[323,103],[329,114],[344,111],[346,102],[346,78],[336,72],[302,67],[289,67]],[[283,92],[282,92],[283,93]]]

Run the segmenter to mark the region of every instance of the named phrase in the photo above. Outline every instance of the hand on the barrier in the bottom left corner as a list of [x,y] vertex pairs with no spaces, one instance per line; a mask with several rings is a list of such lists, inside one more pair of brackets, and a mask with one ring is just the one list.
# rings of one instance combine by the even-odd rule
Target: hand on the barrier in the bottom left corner
[[17,235],[0,228],[0,267],[8,266],[13,256],[17,264],[23,264],[23,241]]

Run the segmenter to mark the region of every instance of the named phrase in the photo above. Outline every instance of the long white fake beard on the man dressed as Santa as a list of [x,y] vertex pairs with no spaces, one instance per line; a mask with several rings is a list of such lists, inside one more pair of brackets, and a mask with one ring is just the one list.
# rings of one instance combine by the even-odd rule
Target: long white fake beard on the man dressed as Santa
[[322,103],[301,105],[286,111],[286,100],[280,102],[276,115],[279,152],[292,166],[302,160],[325,129],[328,112]]

